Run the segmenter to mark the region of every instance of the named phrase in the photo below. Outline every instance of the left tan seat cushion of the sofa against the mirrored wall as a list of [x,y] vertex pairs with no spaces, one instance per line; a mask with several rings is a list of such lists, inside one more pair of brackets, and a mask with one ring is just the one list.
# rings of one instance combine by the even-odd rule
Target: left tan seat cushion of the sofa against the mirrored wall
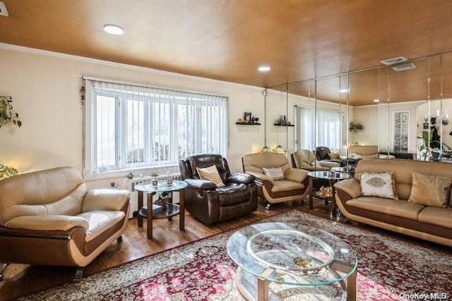
[[403,199],[386,199],[381,197],[357,197],[355,199],[349,199],[347,205],[415,221],[417,221],[417,214],[425,208],[420,204],[407,202]]

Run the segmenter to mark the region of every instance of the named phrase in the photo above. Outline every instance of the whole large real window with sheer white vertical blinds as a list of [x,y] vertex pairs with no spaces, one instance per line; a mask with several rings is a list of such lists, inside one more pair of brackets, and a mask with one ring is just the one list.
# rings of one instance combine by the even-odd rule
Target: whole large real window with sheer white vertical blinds
[[226,155],[227,97],[89,78],[85,87],[88,178],[177,166],[189,154]]

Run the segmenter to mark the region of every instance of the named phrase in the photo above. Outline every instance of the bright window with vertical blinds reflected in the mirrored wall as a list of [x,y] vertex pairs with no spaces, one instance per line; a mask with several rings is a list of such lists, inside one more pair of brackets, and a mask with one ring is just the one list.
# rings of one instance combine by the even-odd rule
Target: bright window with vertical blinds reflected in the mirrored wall
[[340,112],[297,106],[297,149],[340,149]]

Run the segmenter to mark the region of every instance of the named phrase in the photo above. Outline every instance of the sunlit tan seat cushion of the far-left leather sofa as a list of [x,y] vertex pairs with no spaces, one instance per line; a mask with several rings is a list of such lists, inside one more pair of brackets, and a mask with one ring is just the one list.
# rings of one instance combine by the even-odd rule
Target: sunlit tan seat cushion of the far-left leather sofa
[[85,242],[97,238],[98,235],[105,232],[107,228],[124,219],[124,211],[91,211],[78,214],[88,221],[88,230],[86,231]]

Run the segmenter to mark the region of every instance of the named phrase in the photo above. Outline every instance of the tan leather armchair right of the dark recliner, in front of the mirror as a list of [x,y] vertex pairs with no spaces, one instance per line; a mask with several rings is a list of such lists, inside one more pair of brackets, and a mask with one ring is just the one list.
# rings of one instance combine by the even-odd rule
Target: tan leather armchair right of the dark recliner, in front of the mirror
[[[290,167],[289,159],[285,154],[246,154],[242,157],[242,166],[245,173],[256,177],[258,197],[268,202],[267,209],[271,204],[302,200],[307,195],[308,172]],[[270,176],[266,176],[263,168],[281,168],[284,178],[273,180]]]

